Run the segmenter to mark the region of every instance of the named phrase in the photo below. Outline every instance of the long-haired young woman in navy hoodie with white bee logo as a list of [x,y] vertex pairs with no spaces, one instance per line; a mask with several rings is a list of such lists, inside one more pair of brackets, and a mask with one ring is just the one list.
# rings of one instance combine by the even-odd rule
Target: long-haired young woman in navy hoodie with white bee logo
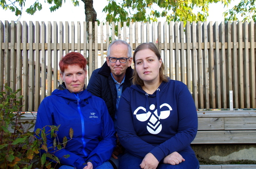
[[197,111],[187,86],[169,80],[154,43],[133,55],[133,84],[121,96],[117,128],[126,149],[119,169],[199,169],[190,143]]

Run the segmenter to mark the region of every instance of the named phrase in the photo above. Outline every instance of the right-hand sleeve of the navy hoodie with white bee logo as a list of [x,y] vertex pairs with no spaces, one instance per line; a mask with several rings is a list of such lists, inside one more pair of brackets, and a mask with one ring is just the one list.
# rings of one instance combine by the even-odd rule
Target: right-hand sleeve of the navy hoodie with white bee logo
[[196,137],[198,126],[197,111],[186,85],[177,94],[176,101],[178,111],[177,133],[150,151],[159,162],[175,151],[183,151]]

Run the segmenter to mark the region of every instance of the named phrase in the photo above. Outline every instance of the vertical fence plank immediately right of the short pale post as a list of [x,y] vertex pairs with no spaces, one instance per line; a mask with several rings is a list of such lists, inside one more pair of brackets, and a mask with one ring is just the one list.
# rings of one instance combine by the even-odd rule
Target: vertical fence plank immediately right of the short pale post
[[238,105],[238,69],[237,69],[237,31],[236,31],[236,21],[233,21],[231,24],[232,34],[231,38],[233,41],[233,49],[232,49],[232,91],[233,91],[233,106],[234,108],[239,108]]

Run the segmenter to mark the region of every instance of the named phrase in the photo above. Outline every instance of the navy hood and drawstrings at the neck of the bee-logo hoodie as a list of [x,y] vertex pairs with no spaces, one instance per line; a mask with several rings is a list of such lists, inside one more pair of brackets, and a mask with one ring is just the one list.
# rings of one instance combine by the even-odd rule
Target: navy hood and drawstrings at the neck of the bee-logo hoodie
[[134,90],[138,91],[139,94],[142,97],[145,97],[146,99],[146,112],[148,114],[149,111],[149,103],[148,103],[148,98],[155,98],[157,101],[157,115],[158,115],[158,119],[160,119],[160,94],[164,93],[164,90],[167,86],[168,82],[162,82],[160,84],[160,86],[157,88],[157,90],[153,93],[153,94],[147,94],[140,85],[132,85],[131,88],[133,88]]

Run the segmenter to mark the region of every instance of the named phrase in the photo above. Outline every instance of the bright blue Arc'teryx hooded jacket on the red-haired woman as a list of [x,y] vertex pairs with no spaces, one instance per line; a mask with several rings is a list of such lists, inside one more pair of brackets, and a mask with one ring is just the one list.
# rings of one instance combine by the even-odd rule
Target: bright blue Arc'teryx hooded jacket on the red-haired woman
[[[64,136],[70,139],[70,128],[74,131],[65,149],[51,151],[55,152],[61,164],[83,169],[86,162],[90,161],[93,168],[96,168],[109,160],[116,146],[116,136],[104,100],[92,96],[86,89],[79,93],[55,89],[51,96],[43,99],[38,108],[35,131],[46,125],[59,124],[60,142]],[[49,129],[46,127],[46,131]],[[51,146],[53,138],[47,135],[47,147]],[[70,157],[62,158],[64,155]]]

